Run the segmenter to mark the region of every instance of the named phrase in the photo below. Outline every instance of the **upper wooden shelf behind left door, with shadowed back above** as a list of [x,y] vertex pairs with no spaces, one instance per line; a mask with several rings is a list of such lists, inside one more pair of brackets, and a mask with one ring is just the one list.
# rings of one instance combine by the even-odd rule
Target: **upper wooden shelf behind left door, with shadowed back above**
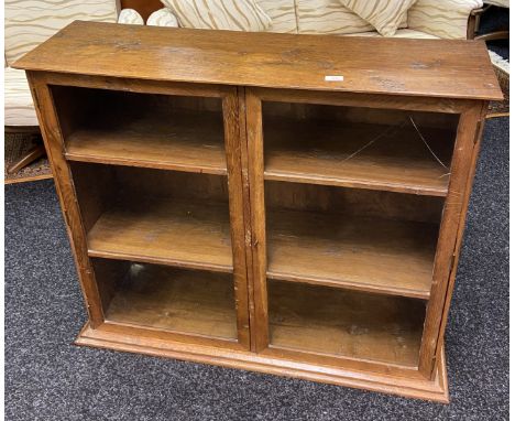
[[96,121],[66,139],[70,161],[227,174],[221,114],[156,112]]

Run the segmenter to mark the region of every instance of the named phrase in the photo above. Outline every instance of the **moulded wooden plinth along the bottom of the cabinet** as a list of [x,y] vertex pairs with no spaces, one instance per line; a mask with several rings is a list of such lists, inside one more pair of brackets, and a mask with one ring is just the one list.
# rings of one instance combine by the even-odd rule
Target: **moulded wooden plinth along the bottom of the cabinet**
[[125,330],[113,332],[92,330],[89,324],[80,332],[77,345],[110,348],[129,353],[176,358],[223,367],[254,370],[259,373],[288,376],[310,381],[393,393],[404,397],[449,403],[446,359],[440,349],[439,366],[435,379],[395,377],[383,373],[364,373],[346,367],[287,360],[284,357],[234,350],[219,346],[205,346],[177,341],[155,339],[134,335]]

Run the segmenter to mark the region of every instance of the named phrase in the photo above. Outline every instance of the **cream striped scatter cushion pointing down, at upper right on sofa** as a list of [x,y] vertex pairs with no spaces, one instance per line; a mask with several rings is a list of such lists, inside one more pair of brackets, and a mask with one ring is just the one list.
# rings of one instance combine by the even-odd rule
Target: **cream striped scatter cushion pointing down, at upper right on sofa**
[[361,19],[374,26],[381,35],[392,36],[416,0],[340,0]]

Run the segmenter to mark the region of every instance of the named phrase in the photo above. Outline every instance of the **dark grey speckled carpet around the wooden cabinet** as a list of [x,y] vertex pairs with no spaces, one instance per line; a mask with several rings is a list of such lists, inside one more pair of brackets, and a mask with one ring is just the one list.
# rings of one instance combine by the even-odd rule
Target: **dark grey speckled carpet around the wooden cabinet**
[[72,345],[85,311],[52,182],[6,188],[7,420],[507,420],[508,121],[490,120],[447,331],[451,403]]

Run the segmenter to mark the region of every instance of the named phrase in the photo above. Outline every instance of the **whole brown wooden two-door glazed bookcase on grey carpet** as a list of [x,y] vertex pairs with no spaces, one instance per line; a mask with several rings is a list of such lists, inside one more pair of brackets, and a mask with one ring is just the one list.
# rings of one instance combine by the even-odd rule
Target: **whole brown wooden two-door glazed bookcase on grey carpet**
[[77,344],[448,401],[483,43],[75,22],[17,67]]

